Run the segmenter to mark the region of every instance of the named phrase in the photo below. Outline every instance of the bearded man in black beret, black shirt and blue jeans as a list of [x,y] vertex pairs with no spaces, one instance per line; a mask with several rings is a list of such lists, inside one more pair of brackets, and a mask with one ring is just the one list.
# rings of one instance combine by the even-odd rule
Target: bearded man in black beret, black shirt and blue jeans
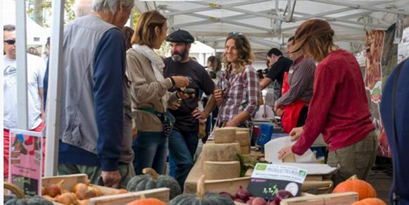
[[183,190],[184,180],[194,165],[193,157],[199,143],[199,120],[194,116],[198,112],[199,90],[210,96],[215,90],[215,83],[203,66],[189,58],[189,49],[194,42],[189,32],[176,30],[168,35],[166,41],[170,44],[172,56],[165,59],[163,75],[187,76],[190,83],[186,89],[194,89],[189,99],[176,102],[170,108],[170,113],[176,119],[169,136],[170,173],[175,173],[175,179]]

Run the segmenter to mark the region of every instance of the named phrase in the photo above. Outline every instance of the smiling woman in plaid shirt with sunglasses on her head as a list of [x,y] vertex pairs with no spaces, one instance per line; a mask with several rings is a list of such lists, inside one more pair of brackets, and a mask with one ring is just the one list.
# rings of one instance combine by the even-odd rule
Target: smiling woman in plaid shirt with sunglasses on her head
[[258,111],[260,88],[253,49],[246,36],[231,32],[223,54],[225,71],[220,76],[220,87],[210,98],[203,113],[208,116],[212,106],[219,106],[218,126],[251,128],[252,118]]

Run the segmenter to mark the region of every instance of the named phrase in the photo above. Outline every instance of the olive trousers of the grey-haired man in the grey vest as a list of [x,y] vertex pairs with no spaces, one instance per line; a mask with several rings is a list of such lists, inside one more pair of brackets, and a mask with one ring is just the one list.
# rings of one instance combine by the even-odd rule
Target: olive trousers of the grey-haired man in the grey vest
[[[121,176],[120,185],[118,189],[126,189],[127,183],[135,172],[132,163],[127,165],[118,166],[118,170]],[[101,167],[98,166],[84,166],[75,164],[60,164],[58,165],[58,175],[73,175],[78,173],[84,173],[88,175],[90,183],[98,185],[99,177],[101,176]]]

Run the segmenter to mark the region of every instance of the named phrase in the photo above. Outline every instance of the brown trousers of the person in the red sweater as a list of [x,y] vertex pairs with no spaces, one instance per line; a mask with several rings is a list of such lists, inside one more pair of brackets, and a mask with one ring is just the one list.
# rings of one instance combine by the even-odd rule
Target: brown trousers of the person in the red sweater
[[355,144],[330,151],[327,164],[332,167],[340,166],[338,172],[332,175],[334,187],[352,175],[356,175],[360,180],[367,180],[376,156],[377,135],[375,131],[370,132]]

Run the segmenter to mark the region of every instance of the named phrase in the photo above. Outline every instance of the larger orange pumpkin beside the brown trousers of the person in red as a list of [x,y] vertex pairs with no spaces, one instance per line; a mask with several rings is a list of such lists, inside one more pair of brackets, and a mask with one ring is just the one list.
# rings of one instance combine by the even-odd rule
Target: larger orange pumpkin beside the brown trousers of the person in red
[[375,192],[374,187],[368,182],[358,180],[356,175],[336,185],[334,191],[332,191],[332,193],[343,192],[358,192],[359,200],[377,197],[377,192]]

